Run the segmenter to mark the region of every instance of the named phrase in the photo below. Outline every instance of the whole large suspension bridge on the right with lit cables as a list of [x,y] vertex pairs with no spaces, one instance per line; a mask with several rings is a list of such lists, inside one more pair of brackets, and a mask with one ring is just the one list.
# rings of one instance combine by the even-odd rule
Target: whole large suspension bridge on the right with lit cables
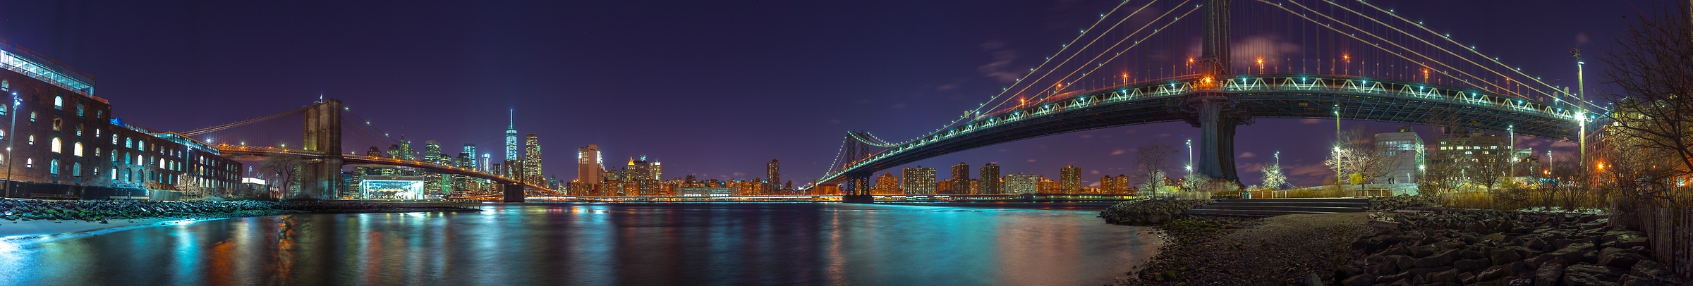
[[1238,181],[1234,132],[1255,118],[1585,140],[1588,120],[1608,112],[1583,100],[1580,86],[1541,81],[1414,17],[1366,0],[1126,0],[929,134],[887,140],[848,130],[830,169],[806,188],[835,184],[869,198],[870,176],[882,169],[1001,142],[1158,122],[1200,129],[1195,173]]

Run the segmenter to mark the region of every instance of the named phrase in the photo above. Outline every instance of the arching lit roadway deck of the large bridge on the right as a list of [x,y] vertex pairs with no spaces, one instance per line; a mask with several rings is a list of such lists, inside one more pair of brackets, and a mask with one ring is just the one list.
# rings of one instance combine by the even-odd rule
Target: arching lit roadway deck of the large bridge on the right
[[[1187,120],[1195,95],[1229,98],[1224,113],[1243,118],[1348,118],[1459,125],[1546,139],[1576,135],[1574,108],[1471,88],[1339,74],[1243,74],[1226,80],[1178,76],[1116,88],[1073,91],[975,117],[972,122],[899,142],[819,179],[840,184],[877,171],[975,147],[1041,135]],[[1233,127],[1231,127],[1233,129]],[[1231,132],[1233,134],[1233,132]],[[1231,135],[1233,137],[1233,135]],[[1233,140],[1233,139],[1229,139]],[[1229,147],[1233,149],[1233,147]],[[1233,162],[1233,154],[1222,156]],[[1231,168],[1233,169],[1233,164]]]

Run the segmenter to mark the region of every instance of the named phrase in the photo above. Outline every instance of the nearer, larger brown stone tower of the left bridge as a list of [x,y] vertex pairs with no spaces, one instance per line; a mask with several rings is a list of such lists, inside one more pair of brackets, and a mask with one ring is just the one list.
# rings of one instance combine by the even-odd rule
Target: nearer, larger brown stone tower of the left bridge
[[323,100],[305,110],[305,151],[323,152],[323,159],[305,166],[301,191],[313,198],[340,198],[340,100]]

